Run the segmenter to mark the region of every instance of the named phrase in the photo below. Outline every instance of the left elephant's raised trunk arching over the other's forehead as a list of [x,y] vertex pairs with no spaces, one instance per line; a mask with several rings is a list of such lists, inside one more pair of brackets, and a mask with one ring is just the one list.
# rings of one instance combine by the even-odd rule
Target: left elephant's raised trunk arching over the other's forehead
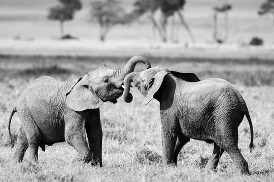
[[127,74],[134,71],[137,63],[145,64],[147,66],[147,69],[151,68],[150,63],[146,58],[144,58],[143,56],[134,56],[127,62],[123,69],[118,70],[118,75],[124,78]]

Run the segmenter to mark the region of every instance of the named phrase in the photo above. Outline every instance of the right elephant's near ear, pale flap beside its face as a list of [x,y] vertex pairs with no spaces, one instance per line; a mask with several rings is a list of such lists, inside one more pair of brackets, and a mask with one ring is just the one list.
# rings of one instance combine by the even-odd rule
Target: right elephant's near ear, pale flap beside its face
[[148,104],[154,98],[166,74],[167,72],[165,70],[160,70],[153,77],[150,78],[148,88],[147,88],[148,89],[147,96],[145,100],[143,101],[143,104]]

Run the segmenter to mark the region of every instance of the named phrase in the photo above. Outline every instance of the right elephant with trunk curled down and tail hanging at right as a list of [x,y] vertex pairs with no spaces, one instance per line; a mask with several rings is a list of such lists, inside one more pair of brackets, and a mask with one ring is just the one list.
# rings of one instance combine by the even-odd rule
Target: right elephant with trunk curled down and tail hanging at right
[[212,157],[206,165],[208,170],[216,170],[226,151],[238,169],[248,174],[248,163],[238,149],[237,128],[245,115],[251,130],[250,152],[254,149],[253,126],[244,99],[224,79],[199,81],[194,75],[163,67],[132,72],[124,79],[123,98],[127,103],[132,101],[129,91],[133,82],[145,96],[144,104],[153,98],[159,101],[163,163],[177,165],[182,147],[194,139],[214,143]]

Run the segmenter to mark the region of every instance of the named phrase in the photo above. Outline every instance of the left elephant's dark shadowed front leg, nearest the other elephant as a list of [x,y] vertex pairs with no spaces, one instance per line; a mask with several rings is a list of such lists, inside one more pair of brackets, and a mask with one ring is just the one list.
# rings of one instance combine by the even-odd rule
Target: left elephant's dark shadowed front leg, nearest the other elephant
[[95,109],[94,113],[86,122],[86,132],[89,149],[92,153],[92,165],[102,166],[102,128],[100,122],[100,110]]

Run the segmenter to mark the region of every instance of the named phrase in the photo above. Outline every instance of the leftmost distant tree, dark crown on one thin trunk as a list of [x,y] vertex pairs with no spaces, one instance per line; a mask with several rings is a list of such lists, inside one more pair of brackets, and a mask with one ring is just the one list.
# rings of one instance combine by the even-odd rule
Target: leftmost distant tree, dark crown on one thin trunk
[[82,9],[82,4],[79,0],[58,0],[59,5],[49,9],[48,19],[60,21],[60,33],[64,35],[64,21],[72,20],[74,13]]

